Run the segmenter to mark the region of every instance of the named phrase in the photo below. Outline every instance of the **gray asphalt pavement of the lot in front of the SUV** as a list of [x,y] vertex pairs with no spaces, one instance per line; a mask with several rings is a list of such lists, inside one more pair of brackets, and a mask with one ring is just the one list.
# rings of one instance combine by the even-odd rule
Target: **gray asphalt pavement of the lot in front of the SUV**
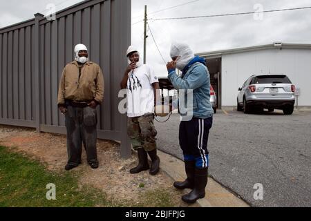
[[[177,114],[156,122],[157,142],[161,151],[182,160],[179,124]],[[310,112],[245,115],[219,110],[208,149],[209,174],[252,206],[311,206]],[[263,200],[256,184],[263,187]]]

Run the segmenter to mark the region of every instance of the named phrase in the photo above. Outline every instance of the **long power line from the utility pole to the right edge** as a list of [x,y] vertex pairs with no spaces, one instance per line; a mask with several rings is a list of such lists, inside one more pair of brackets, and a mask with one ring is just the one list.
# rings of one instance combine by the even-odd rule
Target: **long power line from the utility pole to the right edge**
[[279,9],[279,10],[266,10],[262,12],[241,12],[241,13],[232,13],[232,14],[221,14],[221,15],[203,15],[203,16],[193,16],[193,17],[176,17],[176,18],[163,18],[163,19],[152,19],[153,21],[160,21],[160,20],[176,20],[176,19],[199,19],[199,18],[209,18],[209,17],[225,17],[225,16],[232,16],[232,15],[249,15],[249,14],[256,14],[256,13],[267,13],[267,12],[281,12],[281,11],[289,11],[289,10],[301,10],[301,9],[310,9],[309,7],[303,8],[286,8],[286,9]]

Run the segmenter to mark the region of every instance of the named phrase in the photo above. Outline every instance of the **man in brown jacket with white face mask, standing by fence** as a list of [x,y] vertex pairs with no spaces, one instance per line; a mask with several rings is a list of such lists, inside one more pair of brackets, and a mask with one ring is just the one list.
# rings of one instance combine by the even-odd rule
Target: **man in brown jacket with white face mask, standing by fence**
[[66,65],[59,84],[59,111],[65,115],[68,163],[66,171],[81,164],[82,142],[88,164],[98,167],[96,106],[104,96],[104,77],[100,66],[88,61],[83,44],[75,46],[75,61]]

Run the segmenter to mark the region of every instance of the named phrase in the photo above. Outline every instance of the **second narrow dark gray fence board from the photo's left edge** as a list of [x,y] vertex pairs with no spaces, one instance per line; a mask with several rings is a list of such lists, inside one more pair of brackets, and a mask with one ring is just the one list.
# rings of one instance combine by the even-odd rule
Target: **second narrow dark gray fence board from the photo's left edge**
[[8,33],[8,118],[13,119],[13,31]]

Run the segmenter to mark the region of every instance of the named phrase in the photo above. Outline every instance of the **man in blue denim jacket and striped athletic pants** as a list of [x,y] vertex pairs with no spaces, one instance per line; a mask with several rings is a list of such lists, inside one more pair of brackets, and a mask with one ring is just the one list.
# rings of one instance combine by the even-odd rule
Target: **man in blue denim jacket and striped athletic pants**
[[[183,111],[184,114],[192,113],[192,117],[182,118],[184,120],[180,122],[179,128],[179,142],[184,155],[187,179],[184,182],[174,182],[173,185],[178,189],[192,189],[190,193],[182,196],[182,200],[194,203],[205,197],[207,185],[207,142],[209,129],[213,124],[213,108],[209,102],[210,77],[205,59],[194,56],[187,44],[172,44],[170,55],[173,61],[167,64],[168,78],[174,88],[185,90],[185,97],[180,97],[179,101],[184,99],[186,104],[189,103],[189,95],[192,94],[193,97],[192,104],[186,107],[187,112]],[[176,68],[182,71],[181,77],[176,75]]]

